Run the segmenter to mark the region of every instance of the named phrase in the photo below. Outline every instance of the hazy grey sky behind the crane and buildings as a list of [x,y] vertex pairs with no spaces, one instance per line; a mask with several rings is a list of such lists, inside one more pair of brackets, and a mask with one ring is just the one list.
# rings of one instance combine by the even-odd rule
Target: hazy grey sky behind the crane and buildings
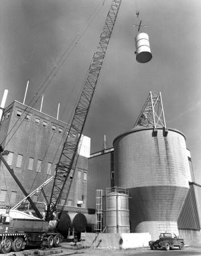
[[[105,24],[111,0],[1,0],[0,98],[70,122]],[[153,58],[135,60],[139,23]],[[150,91],[161,92],[167,127],[186,136],[201,184],[201,1],[122,0],[84,134],[91,152],[133,128]]]

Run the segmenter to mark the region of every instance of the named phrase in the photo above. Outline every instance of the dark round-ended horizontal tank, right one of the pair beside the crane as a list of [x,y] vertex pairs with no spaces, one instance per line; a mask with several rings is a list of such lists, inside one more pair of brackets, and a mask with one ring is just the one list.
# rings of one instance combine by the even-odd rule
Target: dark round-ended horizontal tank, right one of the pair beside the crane
[[76,233],[86,231],[86,217],[82,213],[68,212],[70,216],[70,227],[74,229]]

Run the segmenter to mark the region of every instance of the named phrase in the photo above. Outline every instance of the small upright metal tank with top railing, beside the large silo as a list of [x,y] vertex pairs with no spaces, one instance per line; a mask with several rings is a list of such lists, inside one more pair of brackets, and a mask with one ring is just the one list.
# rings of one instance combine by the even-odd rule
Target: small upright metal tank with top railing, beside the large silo
[[106,233],[130,233],[129,195],[124,190],[111,191],[103,196],[103,229]]

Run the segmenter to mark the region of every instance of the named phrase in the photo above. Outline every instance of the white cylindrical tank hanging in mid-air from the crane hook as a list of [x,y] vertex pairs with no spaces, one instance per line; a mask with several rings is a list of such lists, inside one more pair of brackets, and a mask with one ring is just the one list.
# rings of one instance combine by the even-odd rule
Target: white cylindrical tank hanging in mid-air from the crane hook
[[146,33],[139,33],[135,37],[136,45],[136,60],[139,63],[149,62],[152,58],[150,45],[149,45],[149,36]]

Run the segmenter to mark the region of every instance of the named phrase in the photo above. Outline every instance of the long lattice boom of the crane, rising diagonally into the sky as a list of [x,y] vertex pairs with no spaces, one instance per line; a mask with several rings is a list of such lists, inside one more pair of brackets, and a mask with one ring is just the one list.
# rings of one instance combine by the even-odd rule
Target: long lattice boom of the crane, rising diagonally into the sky
[[76,106],[74,117],[72,118],[72,123],[68,130],[68,135],[66,137],[59,162],[56,166],[56,175],[50,197],[50,205],[46,214],[47,220],[50,220],[52,212],[56,210],[56,206],[60,201],[62,191],[64,190],[70,171],[74,171],[73,169],[75,168],[74,166],[77,160],[78,144],[82,136],[90,103],[94,95],[98,76],[107,52],[107,47],[109,45],[109,40],[111,38],[120,5],[121,0],[113,0],[103,31],[100,34],[98,47],[96,48],[96,52],[94,53],[92,62],[88,69],[88,74],[80,94],[80,99],[78,100],[78,105]]

